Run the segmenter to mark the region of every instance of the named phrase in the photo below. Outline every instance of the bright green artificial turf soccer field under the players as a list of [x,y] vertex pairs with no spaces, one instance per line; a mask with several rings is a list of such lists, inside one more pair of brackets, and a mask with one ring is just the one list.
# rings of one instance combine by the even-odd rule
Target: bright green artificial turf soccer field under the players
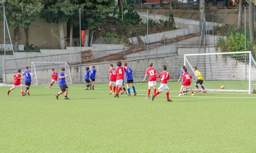
[[173,102],[166,92],[153,102],[147,83],[134,86],[137,96],[114,98],[108,84],[69,85],[70,100],[56,100],[58,86],[24,97],[0,87],[0,152],[255,152],[256,95],[177,97],[180,84],[169,82]]

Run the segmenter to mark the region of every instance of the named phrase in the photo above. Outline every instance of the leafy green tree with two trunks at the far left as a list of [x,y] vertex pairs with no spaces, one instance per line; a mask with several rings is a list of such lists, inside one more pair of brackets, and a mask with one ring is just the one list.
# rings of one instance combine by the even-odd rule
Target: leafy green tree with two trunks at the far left
[[24,28],[26,49],[29,49],[29,26],[44,5],[38,0],[6,0],[5,15],[9,26],[14,29],[13,50],[18,52],[19,28]]

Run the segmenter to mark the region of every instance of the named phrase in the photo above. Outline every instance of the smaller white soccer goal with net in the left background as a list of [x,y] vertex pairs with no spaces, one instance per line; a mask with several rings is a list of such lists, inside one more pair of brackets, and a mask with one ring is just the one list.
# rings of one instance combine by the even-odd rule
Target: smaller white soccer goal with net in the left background
[[[67,84],[72,84],[71,74],[69,65],[65,62],[31,62],[31,72],[35,74],[32,77],[32,84],[44,85],[50,84],[52,80],[52,69],[54,69],[58,74],[60,73],[60,68],[65,68],[65,74],[69,74],[66,78]],[[57,80],[58,83],[59,79]]]

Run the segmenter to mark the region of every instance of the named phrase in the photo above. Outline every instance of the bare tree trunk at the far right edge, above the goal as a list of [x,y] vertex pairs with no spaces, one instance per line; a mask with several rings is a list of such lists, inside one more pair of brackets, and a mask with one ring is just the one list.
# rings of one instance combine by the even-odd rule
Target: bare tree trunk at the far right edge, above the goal
[[250,41],[253,43],[254,41],[254,20],[253,20],[253,8],[254,8],[254,1],[249,0],[249,34],[250,34]]

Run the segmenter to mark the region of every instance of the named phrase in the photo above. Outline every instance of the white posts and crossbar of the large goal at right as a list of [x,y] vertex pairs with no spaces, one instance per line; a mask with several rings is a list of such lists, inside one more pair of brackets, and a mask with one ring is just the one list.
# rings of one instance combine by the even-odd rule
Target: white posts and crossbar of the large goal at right
[[[252,71],[252,62],[256,65],[256,62],[254,58],[252,58],[252,52],[251,51],[243,51],[243,52],[225,52],[225,53],[202,53],[202,54],[184,54],[184,66],[188,66],[191,70],[193,70],[193,66],[190,65],[189,61],[187,60],[187,56],[200,56],[200,55],[224,55],[224,54],[244,54],[248,53],[249,54],[249,77],[248,77],[248,90],[219,90],[219,89],[208,89],[210,91],[237,91],[237,92],[248,92],[251,94],[251,71]],[[195,74],[195,72],[193,71]],[[196,74],[195,74],[196,75]]]

